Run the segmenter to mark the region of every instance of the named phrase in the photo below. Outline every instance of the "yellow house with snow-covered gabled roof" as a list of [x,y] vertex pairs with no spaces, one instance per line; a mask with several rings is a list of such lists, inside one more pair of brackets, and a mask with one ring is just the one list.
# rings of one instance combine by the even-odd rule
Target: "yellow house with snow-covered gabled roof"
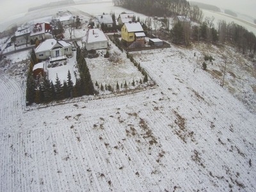
[[121,29],[122,42],[127,47],[144,47],[145,33],[140,22],[124,23]]

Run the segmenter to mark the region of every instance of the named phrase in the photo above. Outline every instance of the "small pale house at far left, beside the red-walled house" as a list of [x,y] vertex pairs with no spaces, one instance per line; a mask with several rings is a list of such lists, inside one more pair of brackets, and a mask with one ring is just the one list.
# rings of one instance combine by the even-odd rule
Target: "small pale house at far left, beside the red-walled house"
[[28,45],[30,44],[30,28],[18,28],[15,32],[15,46]]

